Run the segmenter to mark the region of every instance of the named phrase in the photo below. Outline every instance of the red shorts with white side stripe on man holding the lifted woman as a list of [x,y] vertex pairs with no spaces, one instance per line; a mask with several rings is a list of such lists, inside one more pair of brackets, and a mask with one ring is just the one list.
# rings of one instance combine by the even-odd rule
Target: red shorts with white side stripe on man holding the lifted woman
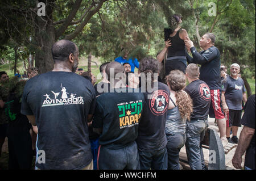
[[[222,111],[221,107],[221,99],[220,99],[220,90],[219,89],[211,89],[210,90],[210,97],[212,99],[212,106],[210,106],[210,110],[214,112],[214,117],[216,119],[224,119],[224,112]],[[210,116],[210,111],[209,110],[209,116]],[[212,116],[210,116],[212,117]]]

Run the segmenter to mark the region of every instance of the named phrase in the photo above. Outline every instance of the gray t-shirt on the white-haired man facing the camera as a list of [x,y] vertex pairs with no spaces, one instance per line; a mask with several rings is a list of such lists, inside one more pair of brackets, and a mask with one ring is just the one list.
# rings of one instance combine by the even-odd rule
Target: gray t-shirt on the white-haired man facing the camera
[[245,84],[242,78],[237,80],[228,76],[222,81],[221,91],[225,91],[226,104],[230,110],[242,110],[243,92]]

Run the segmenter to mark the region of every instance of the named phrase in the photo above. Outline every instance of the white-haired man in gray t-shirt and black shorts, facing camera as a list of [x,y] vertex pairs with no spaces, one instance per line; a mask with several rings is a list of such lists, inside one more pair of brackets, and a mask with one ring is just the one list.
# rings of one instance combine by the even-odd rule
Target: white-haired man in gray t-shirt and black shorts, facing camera
[[[221,86],[221,99],[224,112],[228,115],[229,126],[226,128],[226,138],[230,143],[237,144],[237,131],[241,127],[242,100],[246,103],[245,84],[243,79],[238,77],[240,66],[232,64],[230,66],[230,76],[226,77]],[[232,138],[230,130],[232,128]]]

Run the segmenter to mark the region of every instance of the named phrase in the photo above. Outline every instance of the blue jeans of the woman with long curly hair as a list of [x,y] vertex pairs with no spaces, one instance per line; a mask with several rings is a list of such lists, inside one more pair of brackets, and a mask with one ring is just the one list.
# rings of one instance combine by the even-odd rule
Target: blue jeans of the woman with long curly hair
[[180,170],[179,153],[185,145],[185,134],[168,134],[167,153],[168,153],[168,170]]

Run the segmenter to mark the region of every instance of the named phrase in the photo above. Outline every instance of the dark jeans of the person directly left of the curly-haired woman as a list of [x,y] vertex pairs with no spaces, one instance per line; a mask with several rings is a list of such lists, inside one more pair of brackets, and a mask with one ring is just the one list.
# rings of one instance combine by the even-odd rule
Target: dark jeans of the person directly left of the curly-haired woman
[[152,150],[152,151],[142,151],[139,150],[139,163],[142,170],[167,170],[167,150],[163,148],[162,150]]

